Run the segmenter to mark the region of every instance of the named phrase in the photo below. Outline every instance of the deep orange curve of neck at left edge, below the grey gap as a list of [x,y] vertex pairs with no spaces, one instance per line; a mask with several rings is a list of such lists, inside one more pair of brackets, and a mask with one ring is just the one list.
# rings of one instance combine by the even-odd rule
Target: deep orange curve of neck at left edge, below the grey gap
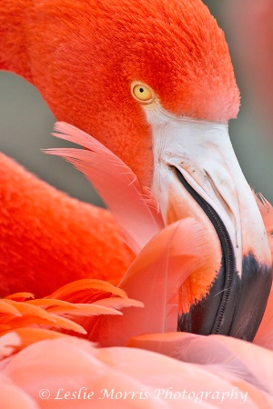
[[75,279],[126,272],[135,255],[111,214],[57,192],[5,155],[1,164],[1,296],[25,289],[45,296]]

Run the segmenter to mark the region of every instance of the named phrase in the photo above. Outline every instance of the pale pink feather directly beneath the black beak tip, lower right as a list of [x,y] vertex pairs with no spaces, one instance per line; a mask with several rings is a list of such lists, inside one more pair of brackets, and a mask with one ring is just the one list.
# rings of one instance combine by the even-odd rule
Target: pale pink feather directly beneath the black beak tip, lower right
[[258,407],[271,407],[268,402],[273,399],[272,351],[233,337],[186,333],[138,336],[130,340],[129,346],[201,366],[231,384],[251,385],[260,395]]

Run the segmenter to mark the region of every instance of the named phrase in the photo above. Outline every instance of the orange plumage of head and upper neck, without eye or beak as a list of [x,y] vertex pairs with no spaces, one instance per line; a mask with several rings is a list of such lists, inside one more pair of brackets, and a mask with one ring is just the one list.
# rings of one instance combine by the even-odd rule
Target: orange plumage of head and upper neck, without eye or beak
[[130,95],[133,79],[145,80],[175,114],[224,122],[238,114],[223,32],[199,0],[21,0],[2,5],[0,15],[0,68],[34,84],[58,120],[96,137],[141,185],[150,185],[151,141]]

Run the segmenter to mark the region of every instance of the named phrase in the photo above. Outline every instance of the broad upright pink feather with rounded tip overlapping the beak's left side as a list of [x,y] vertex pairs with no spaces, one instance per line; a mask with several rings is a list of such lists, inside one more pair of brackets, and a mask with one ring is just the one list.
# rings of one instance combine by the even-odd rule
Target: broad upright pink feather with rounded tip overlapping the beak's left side
[[210,244],[194,219],[170,224],[137,255],[118,285],[144,308],[129,308],[120,317],[86,318],[89,339],[101,345],[124,345],[132,336],[177,330],[179,288],[198,268]]

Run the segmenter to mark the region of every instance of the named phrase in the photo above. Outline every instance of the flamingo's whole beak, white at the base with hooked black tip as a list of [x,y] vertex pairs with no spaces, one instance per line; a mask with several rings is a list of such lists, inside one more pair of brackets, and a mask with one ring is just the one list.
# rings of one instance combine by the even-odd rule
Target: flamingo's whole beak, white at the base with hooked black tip
[[272,283],[268,237],[238,165],[227,124],[146,109],[154,151],[152,190],[165,223],[195,217],[207,259],[180,287],[178,331],[251,341]]

